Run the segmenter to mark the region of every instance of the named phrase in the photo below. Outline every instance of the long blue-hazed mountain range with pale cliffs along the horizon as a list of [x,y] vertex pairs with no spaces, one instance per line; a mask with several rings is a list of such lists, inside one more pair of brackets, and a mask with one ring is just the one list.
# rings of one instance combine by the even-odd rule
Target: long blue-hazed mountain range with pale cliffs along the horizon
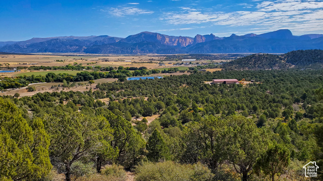
[[126,38],[66,36],[0,42],[1,52],[12,53],[286,53],[305,49],[323,49],[323,34],[294,36],[290,30],[278,30],[259,35],[218,37],[210,34],[192,38],[141,32]]

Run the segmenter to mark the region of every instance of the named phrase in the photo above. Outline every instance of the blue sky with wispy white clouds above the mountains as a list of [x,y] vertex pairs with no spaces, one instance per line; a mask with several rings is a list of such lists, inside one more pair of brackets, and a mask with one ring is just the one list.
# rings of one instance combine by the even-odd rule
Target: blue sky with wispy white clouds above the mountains
[[33,37],[110,35],[142,31],[194,37],[290,29],[323,34],[323,1],[0,1],[0,41]]

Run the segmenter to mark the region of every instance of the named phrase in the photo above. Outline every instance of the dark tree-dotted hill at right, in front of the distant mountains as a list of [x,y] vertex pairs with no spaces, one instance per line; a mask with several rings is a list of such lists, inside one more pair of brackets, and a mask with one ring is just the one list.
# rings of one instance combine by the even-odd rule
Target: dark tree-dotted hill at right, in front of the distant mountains
[[297,50],[282,55],[259,53],[238,58],[223,65],[229,70],[320,68],[322,66],[323,50]]

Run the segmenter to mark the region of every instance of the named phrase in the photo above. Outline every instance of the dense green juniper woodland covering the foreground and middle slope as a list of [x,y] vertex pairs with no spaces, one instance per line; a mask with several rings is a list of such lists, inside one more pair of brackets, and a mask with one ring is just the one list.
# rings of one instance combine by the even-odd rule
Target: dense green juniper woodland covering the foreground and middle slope
[[[53,167],[70,180],[81,172],[78,167],[102,172],[103,166],[116,163],[135,167],[138,180],[158,175],[177,175],[177,180],[299,180],[302,166],[323,155],[322,74],[198,72],[101,83],[83,93],[5,96],[0,98],[0,155],[9,157],[0,156],[0,163],[8,163],[0,164],[6,167],[0,176],[45,179]],[[213,78],[262,83],[203,83]],[[108,104],[100,101],[105,98]],[[152,115],[158,118],[149,125],[141,119]],[[13,126],[11,119],[22,125]],[[28,139],[19,142],[22,128],[28,129],[23,135]],[[23,166],[30,172],[19,173],[16,165],[27,162]]]

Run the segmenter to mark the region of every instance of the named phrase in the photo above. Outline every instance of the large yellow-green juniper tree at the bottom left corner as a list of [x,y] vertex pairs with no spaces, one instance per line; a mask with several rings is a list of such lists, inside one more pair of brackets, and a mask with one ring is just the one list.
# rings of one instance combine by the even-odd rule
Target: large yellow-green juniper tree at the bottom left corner
[[0,98],[0,178],[31,180],[51,169],[49,139],[42,120],[26,120],[10,101]]

